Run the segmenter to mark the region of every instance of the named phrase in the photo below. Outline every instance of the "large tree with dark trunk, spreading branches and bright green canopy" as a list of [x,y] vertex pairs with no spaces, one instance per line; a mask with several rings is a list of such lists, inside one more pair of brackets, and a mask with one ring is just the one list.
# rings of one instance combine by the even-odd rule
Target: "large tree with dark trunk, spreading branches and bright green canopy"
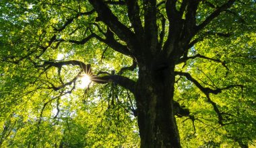
[[[108,109],[116,104],[135,116],[140,147],[181,147],[189,135],[203,135],[211,126],[215,135],[241,147],[255,140],[255,1],[0,3],[1,117],[6,118],[0,145],[19,122],[11,118],[24,112],[29,115],[20,118],[26,120],[22,124],[34,118],[44,128],[58,116],[61,122],[82,116],[82,107],[65,112],[71,108],[65,96],[78,93],[104,94],[87,106],[102,100]],[[94,84],[82,92],[77,87],[84,75]],[[15,124],[15,131],[22,124]],[[204,144],[210,143],[221,141],[209,138]]]

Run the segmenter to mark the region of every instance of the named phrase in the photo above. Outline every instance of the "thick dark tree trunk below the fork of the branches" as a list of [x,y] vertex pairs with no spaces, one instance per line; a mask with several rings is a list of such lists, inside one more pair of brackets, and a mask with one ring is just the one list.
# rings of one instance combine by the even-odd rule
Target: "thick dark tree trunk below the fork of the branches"
[[141,147],[181,147],[173,109],[174,65],[140,69],[135,99]]

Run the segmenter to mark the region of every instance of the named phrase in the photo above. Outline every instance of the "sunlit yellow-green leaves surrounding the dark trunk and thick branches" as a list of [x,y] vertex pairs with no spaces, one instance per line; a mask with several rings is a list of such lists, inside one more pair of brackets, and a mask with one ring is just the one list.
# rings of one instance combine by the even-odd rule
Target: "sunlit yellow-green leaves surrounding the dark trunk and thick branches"
[[[226,1],[209,2],[222,5]],[[229,13],[222,13],[194,37],[201,42],[189,49],[188,55],[201,54],[210,60],[194,58],[176,66],[204,87],[243,85],[210,95],[224,118],[220,126],[205,94],[185,77],[177,76],[174,100],[191,113],[177,117],[183,147],[238,147],[241,141],[255,142],[255,2],[242,2],[236,1]],[[179,8],[181,1],[177,3]],[[143,7],[141,1],[139,7]],[[158,11],[166,17],[161,7]],[[131,27],[127,7],[111,5],[110,9],[121,23]],[[214,9],[200,3],[197,24]],[[132,64],[131,57],[96,38],[74,44],[92,32],[104,38],[102,32],[108,29],[96,22],[96,13],[81,15],[88,11],[92,11],[88,1],[0,1],[0,147],[139,147],[137,118],[132,112],[135,99],[126,89],[115,83],[93,83],[86,89],[77,81],[75,89],[68,85],[54,91],[49,87],[71,81],[79,67],[65,65],[58,73],[57,67],[46,71],[46,67],[35,66],[44,61],[77,60],[90,63],[94,73],[117,73]],[[141,19],[143,13],[141,9]],[[160,33],[160,19],[157,24]],[[231,35],[224,38],[218,33]],[[122,40],[117,42],[125,45]],[[137,69],[125,71],[123,76],[136,80]]]

